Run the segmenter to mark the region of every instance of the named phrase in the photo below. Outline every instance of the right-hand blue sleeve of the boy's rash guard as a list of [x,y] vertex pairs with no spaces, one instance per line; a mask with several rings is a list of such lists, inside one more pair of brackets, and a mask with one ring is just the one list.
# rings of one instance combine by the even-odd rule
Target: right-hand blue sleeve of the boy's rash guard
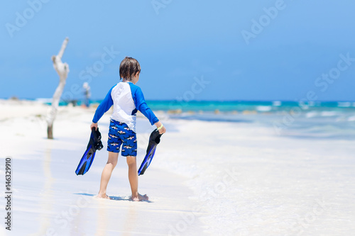
[[[129,86],[131,86],[132,99],[134,101],[134,105],[136,106],[136,109],[138,109],[138,111],[141,111],[141,113],[143,113],[143,115],[146,116],[146,118],[148,118],[149,122],[151,122],[151,125],[157,123],[159,120],[154,115],[151,108],[148,108],[148,105],[146,103],[146,100],[144,99],[141,88],[136,86],[133,83],[129,83]],[[136,113],[136,111],[133,111],[132,113]]]

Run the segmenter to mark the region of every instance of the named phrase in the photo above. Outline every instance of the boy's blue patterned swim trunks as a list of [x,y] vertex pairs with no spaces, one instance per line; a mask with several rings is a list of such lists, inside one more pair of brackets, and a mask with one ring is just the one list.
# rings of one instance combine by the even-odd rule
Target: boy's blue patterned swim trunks
[[109,139],[107,140],[107,151],[119,152],[122,145],[121,155],[124,157],[137,156],[136,133],[126,123],[110,120]]

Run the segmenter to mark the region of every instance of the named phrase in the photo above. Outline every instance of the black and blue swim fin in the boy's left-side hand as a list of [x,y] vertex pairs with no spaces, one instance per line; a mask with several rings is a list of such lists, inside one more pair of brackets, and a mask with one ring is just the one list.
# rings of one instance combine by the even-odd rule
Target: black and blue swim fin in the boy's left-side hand
[[97,130],[92,128],[90,140],[87,144],[87,150],[82,155],[82,159],[80,159],[77,170],[75,171],[77,175],[85,174],[89,171],[92,161],[94,161],[96,150],[102,150],[102,147],[104,147],[104,145],[102,145],[101,142],[101,133],[99,132],[99,128],[97,128]]

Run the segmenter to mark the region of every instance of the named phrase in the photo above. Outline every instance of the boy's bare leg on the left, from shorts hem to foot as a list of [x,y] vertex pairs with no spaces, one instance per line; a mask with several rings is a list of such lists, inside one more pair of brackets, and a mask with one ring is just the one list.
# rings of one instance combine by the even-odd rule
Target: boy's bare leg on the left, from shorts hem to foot
[[99,194],[97,195],[97,198],[109,199],[109,196],[107,196],[106,194],[107,184],[109,184],[112,171],[114,170],[114,167],[116,167],[118,157],[119,157],[119,153],[109,152],[109,159],[107,160],[107,164],[104,167],[104,170],[102,171],[100,191]]

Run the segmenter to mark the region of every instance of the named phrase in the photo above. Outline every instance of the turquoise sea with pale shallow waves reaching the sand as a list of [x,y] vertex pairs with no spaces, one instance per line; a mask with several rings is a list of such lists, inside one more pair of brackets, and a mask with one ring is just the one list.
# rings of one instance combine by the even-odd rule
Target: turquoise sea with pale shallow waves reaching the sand
[[[147,104],[153,111],[164,111],[170,119],[256,123],[273,127],[275,135],[355,140],[354,101],[147,101]],[[76,105],[80,106],[80,101]]]

